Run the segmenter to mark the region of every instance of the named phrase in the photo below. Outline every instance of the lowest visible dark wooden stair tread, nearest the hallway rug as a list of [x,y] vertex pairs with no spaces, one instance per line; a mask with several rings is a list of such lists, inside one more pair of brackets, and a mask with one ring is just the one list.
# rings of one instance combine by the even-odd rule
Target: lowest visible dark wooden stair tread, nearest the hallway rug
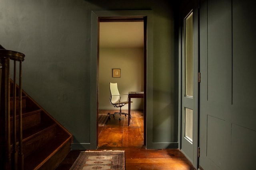
[[24,158],[24,169],[34,169],[36,166],[42,164],[42,162],[44,162],[50,155],[56,152],[60,146],[68,142],[71,144],[71,137],[55,137],[52,141],[46,143],[42,148],[36,150],[34,154],[30,154]]

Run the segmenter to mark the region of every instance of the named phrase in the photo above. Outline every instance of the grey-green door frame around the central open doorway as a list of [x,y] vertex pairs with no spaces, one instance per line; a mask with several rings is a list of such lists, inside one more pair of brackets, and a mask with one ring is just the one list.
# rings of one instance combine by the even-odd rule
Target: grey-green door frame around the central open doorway
[[[131,14],[131,15],[127,15]],[[150,22],[148,20],[150,16]],[[90,85],[90,148],[98,147],[98,60],[99,60],[99,22],[108,21],[144,21],[144,145],[147,146],[148,132],[147,122],[152,120],[152,11],[151,10],[131,10],[131,11],[92,11],[92,31],[91,34],[91,85]],[[150,27],[148,27],[150,25]],[[150,31],[148,31],[150,29]],[[150,35],[148,35],[150,34]],[[150,42],[148,41],[150,36]],[[96,49],[97,48],[97,49]],[[150,55],[150,59],[148,59]],[[150,66],[150,67],[149,67]],[[150,74],[148,74],[150,72]],[[148,110],[150,115],[148,116]],[[151,127],[151,123],[149,123]]]

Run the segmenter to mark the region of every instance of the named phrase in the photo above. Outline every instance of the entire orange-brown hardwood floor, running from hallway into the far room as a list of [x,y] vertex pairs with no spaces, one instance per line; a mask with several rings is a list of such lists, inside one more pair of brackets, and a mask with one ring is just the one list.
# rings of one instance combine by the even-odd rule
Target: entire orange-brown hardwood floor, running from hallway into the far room
[[[113,113],[117,110],[100,110]],[[127,110],[122,110],[127,111]],[[98,128],[97,150],[125,150],[126,170],[196,170],[178,149],[146,149],[144,147],[143,110],[132,110],[128,117],[119,115],[108,119],[106,126]],[[82,150],[72,150],[56,168],[69,170]]]

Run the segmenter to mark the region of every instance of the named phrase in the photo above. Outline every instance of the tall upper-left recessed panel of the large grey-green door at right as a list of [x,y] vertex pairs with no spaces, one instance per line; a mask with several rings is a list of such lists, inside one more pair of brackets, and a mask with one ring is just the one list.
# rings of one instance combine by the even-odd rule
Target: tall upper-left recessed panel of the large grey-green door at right
[[208,1],[208,100],[223,104],[232,99],[231,17],[231,1]]

